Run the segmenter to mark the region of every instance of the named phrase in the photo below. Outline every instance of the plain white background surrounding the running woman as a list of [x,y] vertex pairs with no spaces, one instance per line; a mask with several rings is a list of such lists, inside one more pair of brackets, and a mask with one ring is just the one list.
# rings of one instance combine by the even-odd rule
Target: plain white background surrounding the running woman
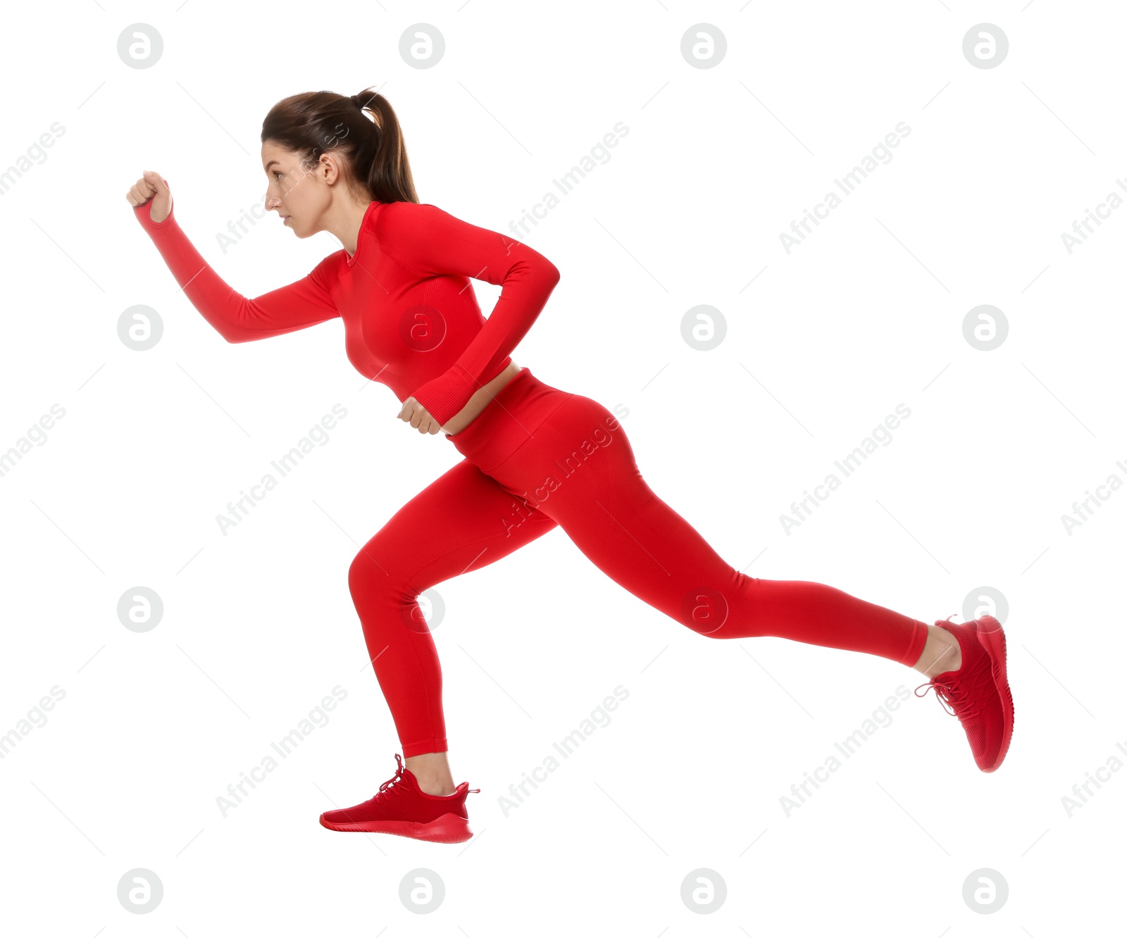
[[[1127,745],[1120,674],[1127,492],[1127,211],[1062,232],[1127,179],[1111,2],[8,5],[0,165],[65,132],[0,198],[0,451],[65,409],[0,477],[0,930],[21,935],[1031,935],[1121,931],[1127,772],[1062,797]],[[131,24],[152,68],[117,54]],[[412,24],[445,38],[408,65]],[[727,53],[691,68],[707,23]],[[996,68],[970,27],[1009,37]],[[1119,62],[1120,64],[1116,64]],[[1017,723],[979,772],[932,699],[908,702],[799,808],[780,798],[897,687],[890,661],[763,638],[709,641],[605,577],[556,530],[437,587],[455,781],[477,837],[432,844],[318,824],[394,771],[398,741],[347,589],[360,546],[460,457],[397,419],[348,364],[339,320],[229,345],[125,201],[142,169],[236,290],[340,245],[259,203],[258,134],[299,91],[379,89],[423,202],[498,231],[616,122],[629,133],[525,240],[562,278],[513,357],[606,407],[647,481],[734,567],[828,583],[924,621],[1005,598]],[[780,233],[884,136],[911,134],[789,254]],[[1121,189],[1118,189],[1122,192]],[[754,282],[752,282],[754,281]],[[498,289],[476,284],[488,312]],[[150,351],[117,320],[143,303]],[[718,308],[711,352],[682,339]],[[1009,322],[983,352],[973,307]],[[328,414],[348,415],[223,536],[215,516]],[[898,404],[911,417],[815,515],[780,515]],[[137,634],[119,598],[163,601]],[[968,600],[969,598],[969,600]],[[753,657],[754,656],[754,657]],[[330,722],[225,817],[216,797],[335,685]],[[505,816],[498,797],[621,684],[629,697]],[[1127,762],[1127,754],[1120,752]],[[752,844],[752,846],[749,846]],[[117,899],[145,868],[163,900]],[[700,914],[682,881],[715,870]],[[441,878],[431,913],[399,899]],[[990,868],[1009,900],[980,914]]]

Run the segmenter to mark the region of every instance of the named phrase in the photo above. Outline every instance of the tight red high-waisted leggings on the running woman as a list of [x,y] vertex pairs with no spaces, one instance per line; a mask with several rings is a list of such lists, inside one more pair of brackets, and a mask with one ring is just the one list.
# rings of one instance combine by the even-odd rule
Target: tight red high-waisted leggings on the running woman
[[442,670],[417,598],[556,525],[603,573],[710,638],[777,636],[913,665],[925,623],[801,579],[728,565],[655,495],[601,404],[522,369],[463,431],[465,457],[356,555],[348,587],[405,756],[446,751]]

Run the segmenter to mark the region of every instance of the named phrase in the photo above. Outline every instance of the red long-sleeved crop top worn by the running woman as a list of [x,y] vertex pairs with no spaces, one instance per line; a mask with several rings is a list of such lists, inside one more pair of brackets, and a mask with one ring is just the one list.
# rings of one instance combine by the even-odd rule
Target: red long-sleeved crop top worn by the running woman
[[[527,245],[416,202],[372,202],[356,253],[340,250],[308,275],[254,299],[207,265],[175,219],[134,206],[192,304],[228,342],[292,333],[340,317],[356,370],[414,396],[441,425],[512,361],[548,302],[559,271]],[[174,206],[175,209],[175,206]],[[498,284],[481,316],[470,277]]]

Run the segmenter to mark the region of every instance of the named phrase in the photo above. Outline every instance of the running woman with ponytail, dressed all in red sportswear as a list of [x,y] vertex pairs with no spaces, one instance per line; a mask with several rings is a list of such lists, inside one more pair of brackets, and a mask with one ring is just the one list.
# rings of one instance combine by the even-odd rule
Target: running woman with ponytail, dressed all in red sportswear
[[[959,717],[978,768],[1002,763],[1013,705],[997,620],[928,626],[832,586],[729,566],[650,490],[605,407],[509,357],[559,272],[525,244],[419,203],[382,96],[285,98],[266,115],[261,144],[267,211],[299,238],[330,231],[343,248],[248,300],[180,230],[167,182],[145,171],[126,197],[185,294],[228,342],[341,318],[349,361],[391,388],[399,418],[442,431],[463,457],[352,563],[349,590],[406,764],[396,753],[398,769],[376,795],[326,812],[326,828],[445,843],[472,835],[465,797],[479,789],[455,787],[450,772],[442,674],[417,596],[557,525],[624,589],[700,635],[777,636],[914,667],[931,679],[924,693],[934,689]],[[502,287],[488,319],[470,277]]]

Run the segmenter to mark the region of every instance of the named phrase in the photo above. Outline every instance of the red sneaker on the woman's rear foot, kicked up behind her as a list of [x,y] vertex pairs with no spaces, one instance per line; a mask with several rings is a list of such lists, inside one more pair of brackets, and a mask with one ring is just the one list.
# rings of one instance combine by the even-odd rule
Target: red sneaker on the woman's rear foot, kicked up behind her
[[[934,688],[943,709],[962,724],[978,768],[993,772],[1005,759],[1013,734],[1013,697],[1005,676],[1005,632],[993,616],[969,622],[951,622],[950,618],[935,625],[959,640],[962,664],[958,671],[944,671],[920,684],[915,694],[925,697]],[[924,688],[923,693],[920,688]]]

